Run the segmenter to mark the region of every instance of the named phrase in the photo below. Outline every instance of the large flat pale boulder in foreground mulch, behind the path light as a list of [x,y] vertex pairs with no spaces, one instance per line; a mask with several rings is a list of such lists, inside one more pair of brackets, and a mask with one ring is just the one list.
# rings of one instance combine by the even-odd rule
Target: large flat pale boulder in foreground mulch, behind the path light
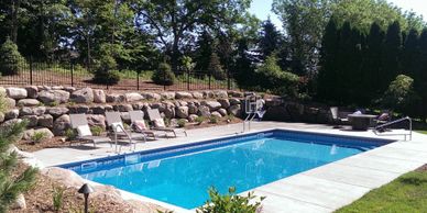
[[66,188],[79,189],[85,183],[85,180],[76,172],[59,167],[44,168],[42,169],[42,173],[57,182],[61,182]]

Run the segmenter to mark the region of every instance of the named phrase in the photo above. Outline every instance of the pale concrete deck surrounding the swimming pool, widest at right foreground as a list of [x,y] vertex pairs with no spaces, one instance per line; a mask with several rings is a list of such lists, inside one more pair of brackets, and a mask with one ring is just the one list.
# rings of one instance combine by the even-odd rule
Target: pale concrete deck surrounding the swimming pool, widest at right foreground
[[[402,135],[376,136],[372,131],[353,132],[333,130],[327,125],[253,122],[251,132],[269,128],[298,130],[337,135],[353,135],[362,137],[396,139],[397,142],[361,153],[315,169],[304,171],[285,179],[258,187],[255,195],[265,195],[263,212],[333,212],[350,204],[372,189],[379,188],[398,176],[427,164],[427,135],[413,133],[410,142],[403,142]],[[188,137],[161,138],[154,142],[139,143],[136,150],[146,150],[166,146],[188,144],[221,136],[239,134],[242,124],[230,124],[216,127],[187,131]],[[401,141],[399,141],[401,139]],[[191,142],[189,142],[191,141]],[[91,148],[91,144],[83,146],[50,148],[34,153],[44,166],[54,166],[72,161],[99,158],[114,154],[114,147],[100,144]],[[128,152],[127,146],[122,152]],[[132,197],[132,194],[125,194]],[[150,201],[136,195],[141,200]],[[135,198],[135,197],[133,197]],[[162,204],[161,202],[156,202]],[[176,212],[188,212],[167,205]]]

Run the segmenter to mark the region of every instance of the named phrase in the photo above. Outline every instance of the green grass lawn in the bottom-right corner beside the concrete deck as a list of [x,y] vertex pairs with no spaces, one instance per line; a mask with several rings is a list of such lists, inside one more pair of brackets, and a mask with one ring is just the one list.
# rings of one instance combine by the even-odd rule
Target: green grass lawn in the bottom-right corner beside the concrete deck
[[403,175],[336,212],[427,212],[427,167]]

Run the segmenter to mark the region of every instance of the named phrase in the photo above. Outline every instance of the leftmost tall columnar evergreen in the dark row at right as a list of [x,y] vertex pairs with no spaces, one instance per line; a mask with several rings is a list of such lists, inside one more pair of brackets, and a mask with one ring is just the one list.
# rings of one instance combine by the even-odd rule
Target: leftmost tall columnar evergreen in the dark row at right
[[329,20],[321,41],[320,70],[318,75],[318,98],[320,100],[338,100],[336,83],[338,82],[339,26],[333,16]]

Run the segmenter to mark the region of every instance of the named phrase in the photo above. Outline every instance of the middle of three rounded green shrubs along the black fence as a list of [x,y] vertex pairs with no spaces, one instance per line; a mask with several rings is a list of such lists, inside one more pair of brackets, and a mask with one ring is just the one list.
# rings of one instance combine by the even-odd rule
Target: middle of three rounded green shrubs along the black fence
[[120,75],[117,70],[116,59],[110,55],[101,55],[94,70],[94,82],[102,85],[117,85],[120,81]]

